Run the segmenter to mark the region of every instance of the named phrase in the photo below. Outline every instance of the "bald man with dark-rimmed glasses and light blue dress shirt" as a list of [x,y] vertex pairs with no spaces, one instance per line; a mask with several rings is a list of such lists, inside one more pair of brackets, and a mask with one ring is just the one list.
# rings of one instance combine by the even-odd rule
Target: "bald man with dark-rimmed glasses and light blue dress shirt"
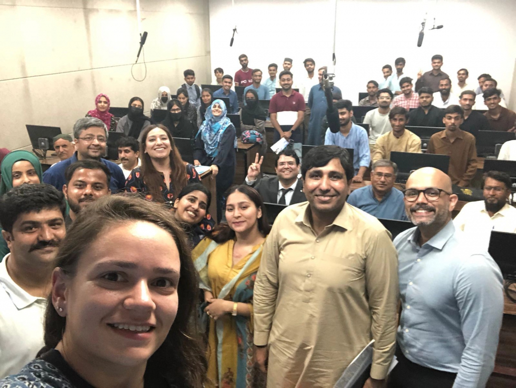
[[450,178],[424,167],[407,180],[416,228],[394,240],[401,315],[389,388],[480,388],[494,369],[504,310],[502,274],[456,230]]

